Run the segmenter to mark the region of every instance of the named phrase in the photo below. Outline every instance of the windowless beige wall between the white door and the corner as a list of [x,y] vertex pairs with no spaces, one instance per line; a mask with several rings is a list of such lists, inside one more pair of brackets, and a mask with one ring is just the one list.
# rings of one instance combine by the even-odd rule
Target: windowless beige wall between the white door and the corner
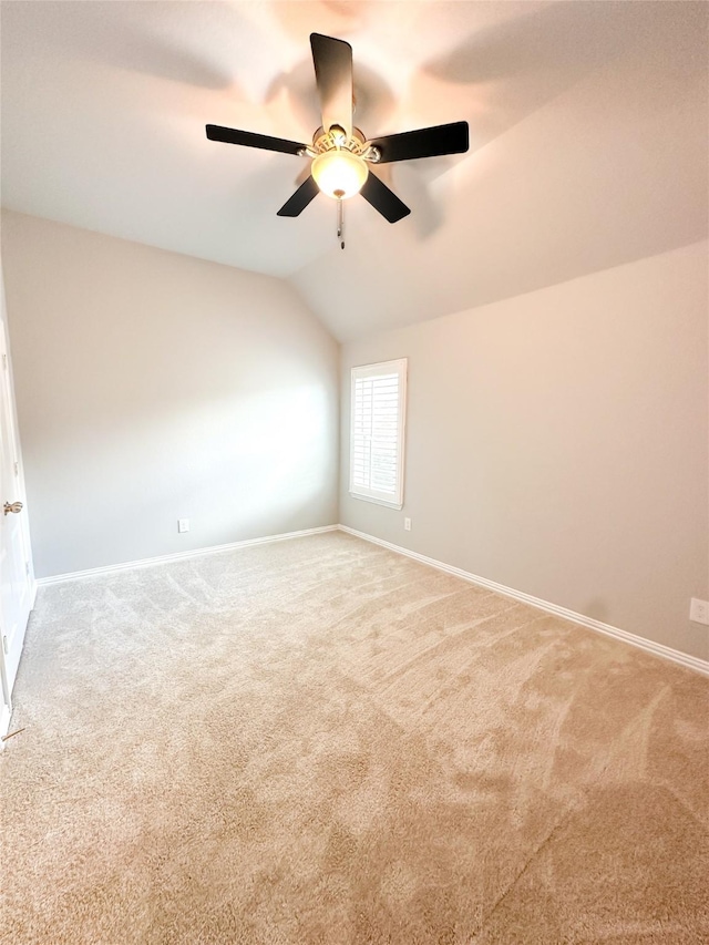
[[38,576],[337,522],[337,345],[289,286],[10,212],[2,258]]

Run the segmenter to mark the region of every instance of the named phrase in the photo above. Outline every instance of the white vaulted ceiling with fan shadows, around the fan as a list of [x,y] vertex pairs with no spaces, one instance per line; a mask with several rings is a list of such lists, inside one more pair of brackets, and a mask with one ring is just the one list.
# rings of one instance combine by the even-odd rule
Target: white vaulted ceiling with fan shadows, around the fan
[[[703,2],[6,0],[2,204],[289,278],[340,339],[518,295],[707,235]],[[378,173],[412,208],[276,216],[307,160],[309,33],[352,43],[368,136],[466,120],[466,155]]]

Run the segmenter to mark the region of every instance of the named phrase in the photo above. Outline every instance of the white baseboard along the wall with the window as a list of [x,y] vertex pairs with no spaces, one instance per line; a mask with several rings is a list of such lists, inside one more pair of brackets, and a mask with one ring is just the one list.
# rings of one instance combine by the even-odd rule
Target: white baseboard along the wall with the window
[[548,600],[542,600],[540,597],[532,597],[531,594],[524,594],[522,590],[515,590],[513,587],[506,587],[504,584],[497,584],[494,581],[489,581],[486,577],[480,577],[476,574],[471,574],[460,567],[444,564],[443,562],[430,558],[427,555],[420,555],[418,552],[411,552],[408,548],[402,548],[400,545],[394,545],[391,542],[384,542],[382,538],[376,538],[373,535],[368,535],[366,532],[358,532],[356,528],[350,528],[348,525],[340,525],[341,532],[347,532],[348,535],[354,535],[358,538],[363,538],[366,542],[371,542],[374,545],[381,545],[383,548],[389,548],[397,554],[405,555],[407,557],[419,561],[422,564],[428,564],[438,571],[444,571],[446,574],[453,574],[456,577],[462,577],[463,581],[470,581],[472,584],[477,584],[481,587],[486,587],[489,590],[494,590],[497,594],[504,594],[505,597],[512,597],[513,600],[520,600],[522,604],[528,604],[532,607],[537,607],[540,610],[545,610],[547,614],[554,614],[556,617],[563,617],[565,620],[572,620],[574,624],[580,624],[582,627],[587,627],[589,630],[605,634],[608,637],[615,637],[617,640],[630,644],[630,646],[644,649],[646,653],[651,653],[654,656],[661,656],[664,659],[669,659],[672,662],[684,666],[686,669],[693,669],[696,672],[701,672],[703,676],[709,676],[709,661],[699,659],[696,656],[689,656],[678,649],[657,644],[654,640],[648,640],[645,637],[639,637],[636,634],[630,634],[627,630],[621,630],[619,627],[613,627],[610,624],[602,624],[600,620],[594,620],[593,617],[586,617],[584,614],[577,614],[575,610],[569,610],[566,607],[559,607],[557,604],[549,604]]

